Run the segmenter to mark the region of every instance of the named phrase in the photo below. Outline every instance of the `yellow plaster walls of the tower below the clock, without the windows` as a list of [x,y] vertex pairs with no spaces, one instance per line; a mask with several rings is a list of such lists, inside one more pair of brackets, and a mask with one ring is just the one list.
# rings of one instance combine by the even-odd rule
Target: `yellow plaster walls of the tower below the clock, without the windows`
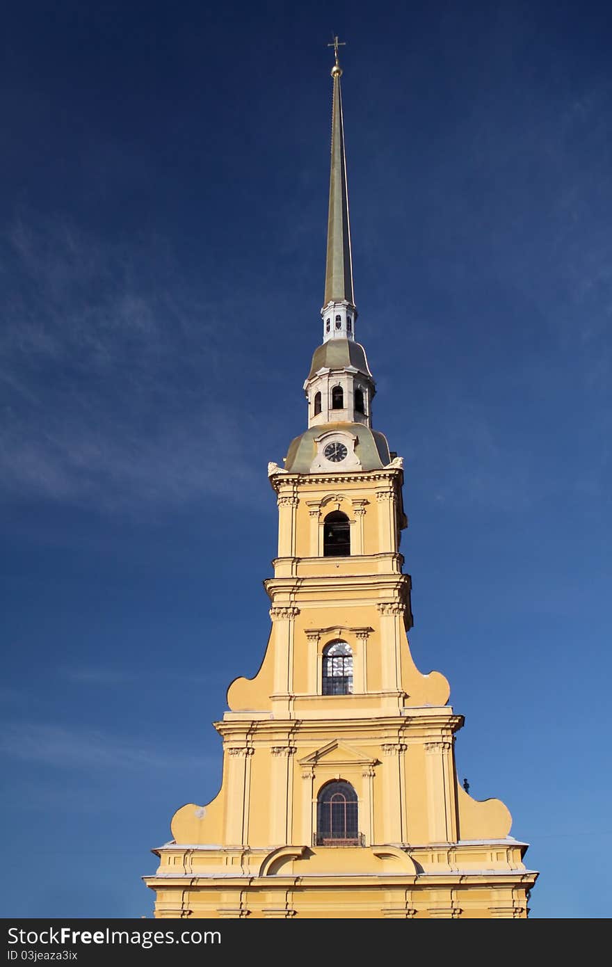
[[[437,671],[421,673],[411,656],[410,582],[393,551],[403,519],[400,477],[281,482],[281,543],[298,556],[278,558],[266,582],[273,625],[257,674],[227,692],[230,711],[217,723],[219,794],[207,806],[177,810],[175,852],[160,856],[164,878],[147,880],[158,891],[156,916],[282,917],[285,909],[312,918],[526,916],[524,883],[537,874],[525,871],[520,849],[506,839],[510,812],[499,800],[473,800],[458,784],[452,737],[462,719],[447,704],[449,683]],[[391,503],[379,502],[379,491],[391,493]],[[322,516],[339,506],[355,520],[353,500],[364,509],[363,555],[312,557],[312,502],[323,505]],[[324,696],[322,652],[336,638],[353,651],[356,689]],[[370,846],[313,846],[316,796],[332,778],[354,786]],[[460,891],[452,880],[458,869],[474,878]],[[479,882],[482,869],[508,875],[506,892]],[[423,886],[421,870],[439,877],[438,888]],[[217,882],[221,871],[236,883]],[[201,880],[186,890],[181,872]],[[360,876],[378,886],[358,884]],[[389,876],[404,885],[391,887]],[[267,882],[275,877],[299,877],[301,885],[277,889]]]

